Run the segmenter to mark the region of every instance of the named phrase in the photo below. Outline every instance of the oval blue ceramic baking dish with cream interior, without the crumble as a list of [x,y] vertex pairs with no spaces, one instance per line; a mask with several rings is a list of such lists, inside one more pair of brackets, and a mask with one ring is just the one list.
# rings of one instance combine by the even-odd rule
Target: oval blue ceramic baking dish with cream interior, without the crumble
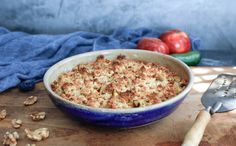
[[[130,109],[105,109],[80,105],[65,100],[52,91],[50,85],[60,74],[71,70],[80,63],[94,61],[96,57],[101,54],[108,59],[114,59],[118,55],[123,54],[131,59],[158,62],[161,65],[168,67],[182,78],[187,79],[188,85],[180,94],[167,101],[151,106]],[[79,54],[56,63],[46,72],[44,76],[44,85],[53,103],[59,109],[74,118],[98,126],[131,128],[153,123],[172,113],[191,90],[193,85],[193,74],[187,65],[168,55],[144,50],[114,49]]]

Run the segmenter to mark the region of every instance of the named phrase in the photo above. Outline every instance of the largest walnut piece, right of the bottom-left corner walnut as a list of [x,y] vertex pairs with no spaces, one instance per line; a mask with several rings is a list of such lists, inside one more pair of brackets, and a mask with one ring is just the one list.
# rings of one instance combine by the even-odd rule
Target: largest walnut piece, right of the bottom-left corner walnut
[[49,136],[49,130],[47,128],[39,128],[34,131],[31,131],[30,129],[25,129],[26,136],[34,141],[41,141]]

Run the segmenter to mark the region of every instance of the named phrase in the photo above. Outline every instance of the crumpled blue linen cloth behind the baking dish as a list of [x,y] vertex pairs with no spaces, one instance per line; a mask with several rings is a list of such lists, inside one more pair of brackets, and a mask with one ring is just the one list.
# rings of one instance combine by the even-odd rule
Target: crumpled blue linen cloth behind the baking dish
[[[56,62],[90,51],[136,47],[142,37],[158,37],[157,30],[119,28],[111,35],[74,32],[65,35],[31,35],[0,27],[0,92],[18,86],[33,89]],[[191,38],[192,49],[199,49],[198,38]]]

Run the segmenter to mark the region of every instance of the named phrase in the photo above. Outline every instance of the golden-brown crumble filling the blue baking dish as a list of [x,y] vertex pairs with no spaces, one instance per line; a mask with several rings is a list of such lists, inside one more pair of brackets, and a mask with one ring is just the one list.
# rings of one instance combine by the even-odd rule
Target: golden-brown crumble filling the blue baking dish
[[74,103],[99,108],[135,108],[163,102],[179,94],[187,81],[157,63],[103,55],[61,74],[52,90]]

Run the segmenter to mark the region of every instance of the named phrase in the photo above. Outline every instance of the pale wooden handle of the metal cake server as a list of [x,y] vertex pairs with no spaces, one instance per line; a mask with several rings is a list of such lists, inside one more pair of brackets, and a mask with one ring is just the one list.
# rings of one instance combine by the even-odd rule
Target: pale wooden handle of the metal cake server
[[198,146],[210,119],[211,115],[209,112],[205,110],[200,111],[192,128],[185,135],[182,146]]

